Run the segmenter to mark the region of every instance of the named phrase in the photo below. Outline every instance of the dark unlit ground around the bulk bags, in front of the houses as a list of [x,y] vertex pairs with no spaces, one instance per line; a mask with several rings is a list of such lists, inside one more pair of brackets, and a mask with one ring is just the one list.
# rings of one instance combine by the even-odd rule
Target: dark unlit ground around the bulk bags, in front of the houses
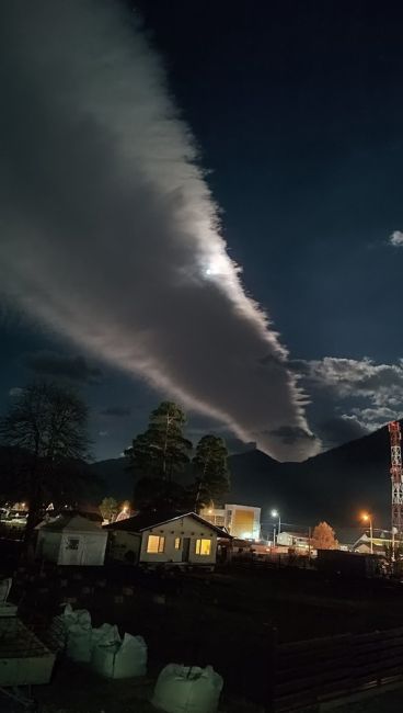
[[[267,701],[275,640],[403,625],[403,585],[246,563],[215,574],[183,575],[113,566],[20,568],[10,599],[20,603],[22,618],[39,635],[60,604],[70,601],[73,608],[88,609],[95,626],[118,624],[120,634],[141,634],[149,648],[149,677],[140,681],[105,681],[85,667],[58,661],[50,686],[36,692],[44,713],[152,711],[148,700],[156,678],[172,661],[212,665],[224,680],[221,710],[257,712]],[[398,705],[401,710],[401,691],[339,710],[393,712]]]

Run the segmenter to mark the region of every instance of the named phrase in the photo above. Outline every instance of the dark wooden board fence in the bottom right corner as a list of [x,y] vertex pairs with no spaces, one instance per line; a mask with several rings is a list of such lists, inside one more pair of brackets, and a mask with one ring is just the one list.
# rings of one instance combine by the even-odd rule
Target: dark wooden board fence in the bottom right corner
[[402,678],[403,627],[274,647],[272,710],[318,705]]

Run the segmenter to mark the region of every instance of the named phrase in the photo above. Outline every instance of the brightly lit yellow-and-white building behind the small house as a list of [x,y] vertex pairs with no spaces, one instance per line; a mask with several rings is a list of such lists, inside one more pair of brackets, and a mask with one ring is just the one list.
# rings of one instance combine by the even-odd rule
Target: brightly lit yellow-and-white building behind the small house
[[200,516],[218,528],[226,528],[233,537],[261,539],[261,508],[250,505],[226,505],[223,508],[205,508]]

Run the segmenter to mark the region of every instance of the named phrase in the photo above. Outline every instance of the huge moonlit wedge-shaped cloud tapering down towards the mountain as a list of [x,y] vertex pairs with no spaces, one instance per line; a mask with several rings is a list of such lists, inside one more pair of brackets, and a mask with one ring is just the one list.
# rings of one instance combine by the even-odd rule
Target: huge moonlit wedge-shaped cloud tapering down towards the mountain
[[314,453],[287,352],[243,291],[139,29],[99,0],[13,0],[0,22],[5,291],[272,455]]

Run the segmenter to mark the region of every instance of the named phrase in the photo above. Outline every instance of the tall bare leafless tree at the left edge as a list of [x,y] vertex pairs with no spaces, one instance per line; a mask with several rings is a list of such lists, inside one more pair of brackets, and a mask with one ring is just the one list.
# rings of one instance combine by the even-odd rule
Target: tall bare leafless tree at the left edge
[[71,474],[72,462],[88,455],[88,409],[73,392],[51,383],[33,383],[21,391],[0,419],[0,440],[18,449],[30,512],[30,541],[45,498],[59,489],[58,478]]

